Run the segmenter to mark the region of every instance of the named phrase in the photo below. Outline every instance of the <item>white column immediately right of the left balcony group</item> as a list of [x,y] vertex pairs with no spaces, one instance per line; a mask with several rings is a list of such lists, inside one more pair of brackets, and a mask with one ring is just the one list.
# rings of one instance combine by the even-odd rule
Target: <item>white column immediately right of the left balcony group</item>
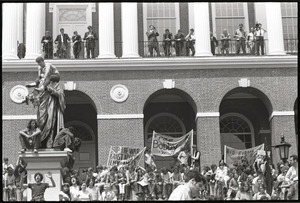
[[99,3],[99,56],[115,58],[114,3]]

